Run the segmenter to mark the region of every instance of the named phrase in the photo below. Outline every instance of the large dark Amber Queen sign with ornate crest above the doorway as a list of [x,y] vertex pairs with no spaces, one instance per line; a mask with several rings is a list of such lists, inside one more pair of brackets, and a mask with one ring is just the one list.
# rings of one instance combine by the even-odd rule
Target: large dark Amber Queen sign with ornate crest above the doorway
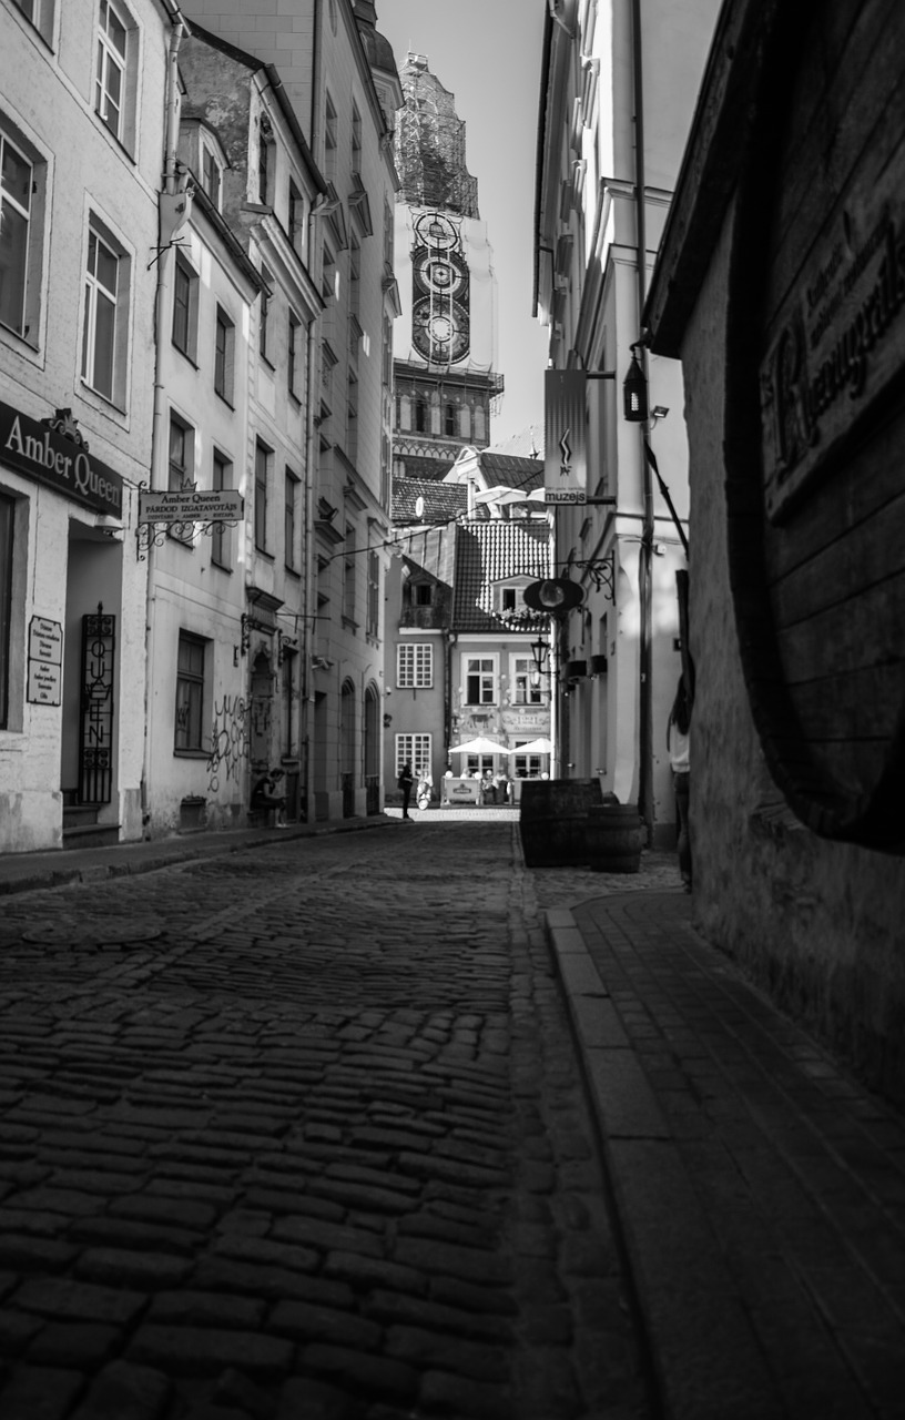
[[75,429],[75,420],[38,423],[0,403],[0,460],[95,513],[122,517],[121,476],[88,453],[84,442],[62,435],[64,427]]

